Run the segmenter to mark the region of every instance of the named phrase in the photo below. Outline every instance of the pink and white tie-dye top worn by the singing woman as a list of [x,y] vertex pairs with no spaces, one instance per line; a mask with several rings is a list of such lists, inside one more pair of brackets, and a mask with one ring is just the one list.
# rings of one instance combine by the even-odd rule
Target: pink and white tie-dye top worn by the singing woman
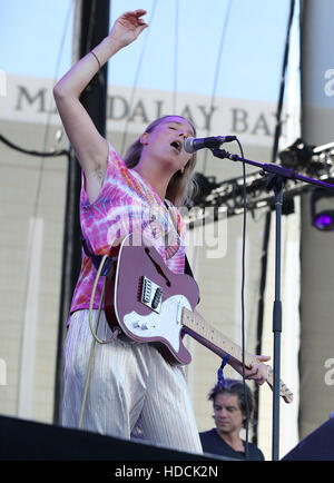
[[[185,224],[178,209],[166,201],[137,171],[128,169],[109,146],[108,167],[98,198],[89,203],[85,176],[80,194],[81,231],[95,255],[105,255],[114,241],[129,233],[141,233],[159,252],[168,268],[183,274],[185,269]],[[168,211],[170,211],[168,214]],[[171,216],[170,216],[171,215]],[[175,229],[175,224],[177,230]],[[97,270],[82,250],[82,264],[73,293],[70,313],[89,308]],[[98,308],[104,279],[100,277],[94,308]]]

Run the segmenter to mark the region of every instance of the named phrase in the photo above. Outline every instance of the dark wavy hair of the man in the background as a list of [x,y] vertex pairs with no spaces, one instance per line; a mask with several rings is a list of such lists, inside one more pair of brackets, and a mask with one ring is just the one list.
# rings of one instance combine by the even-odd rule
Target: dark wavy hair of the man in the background
[[[245,393],[246,390],[246,393]],[[253,411],[254,411],[254,398],[250,388],[242,381],[236,379],[224,379],[215,385],[208,394],[208,401],[212,401],[215,404],[216,396],[218,394],[230,394],[238,396],[238,403],[242,410],[242,413],[247,416],[247,405],[248,405],[248,416],[249,421],[252,420]],[[246,400],[247,397],[247,400]],[[247,420],[244,422],[244,427],[246,427]]]

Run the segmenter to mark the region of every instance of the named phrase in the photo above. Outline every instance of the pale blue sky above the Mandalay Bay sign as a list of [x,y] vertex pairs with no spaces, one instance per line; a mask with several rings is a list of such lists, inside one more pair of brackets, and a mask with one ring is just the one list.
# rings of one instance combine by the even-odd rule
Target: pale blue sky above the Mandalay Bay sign
[[[149,23],[109,61],[110,85],[277,101],[291,0],[110,4],[110,28],[138,8]],[[0,69],[52,79],[69,69],[73,0],[0,0]]]

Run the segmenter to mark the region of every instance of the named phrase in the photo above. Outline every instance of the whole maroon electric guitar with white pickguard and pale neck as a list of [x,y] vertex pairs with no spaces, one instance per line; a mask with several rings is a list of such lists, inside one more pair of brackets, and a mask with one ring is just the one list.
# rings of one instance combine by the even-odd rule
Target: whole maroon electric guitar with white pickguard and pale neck
[[[106,277],[105,313],[108,325],[130,339],[157,346],[170,364],[189,364],[191,355],[185,347],[186,334],[219,357],[227,353],[243,362],[266,366],[266,382],[273,390],[273,369],[243,349],[195,312],[198,285],[189,275],[175,274],[159,253],[134,234],[111,247],[111,268]],[[279,382],[279,395],[286,403],[293,394]]]

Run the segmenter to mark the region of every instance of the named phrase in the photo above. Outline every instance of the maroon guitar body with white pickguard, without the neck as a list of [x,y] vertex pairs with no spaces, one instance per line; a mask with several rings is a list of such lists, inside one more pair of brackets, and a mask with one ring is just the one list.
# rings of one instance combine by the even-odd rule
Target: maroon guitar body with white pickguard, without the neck
[[181,309],[194,310],[198,285],[188,275],[174,274],[156,248],[144,241],[131,234],[110,250],[115,262],[106,278],[107,322],[132,341],[156,345],[170,364],[189,364]]

